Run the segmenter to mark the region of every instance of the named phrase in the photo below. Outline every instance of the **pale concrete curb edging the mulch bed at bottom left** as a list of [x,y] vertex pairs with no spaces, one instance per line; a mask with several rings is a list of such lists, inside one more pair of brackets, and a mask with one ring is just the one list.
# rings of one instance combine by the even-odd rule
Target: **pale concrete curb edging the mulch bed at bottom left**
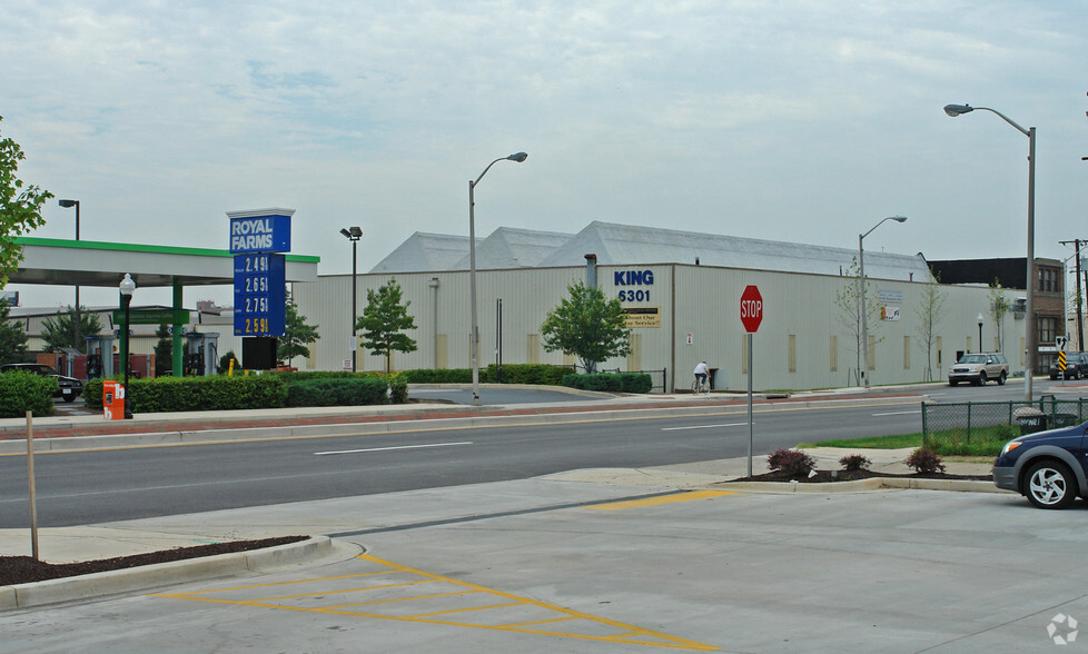
[[[0,611],[146,591],[210,577],[313,563],[334,554],[328,536],[251,552],[235,552],[155,565],[0,587]],[[352,554],[354,556],[354,553]]]

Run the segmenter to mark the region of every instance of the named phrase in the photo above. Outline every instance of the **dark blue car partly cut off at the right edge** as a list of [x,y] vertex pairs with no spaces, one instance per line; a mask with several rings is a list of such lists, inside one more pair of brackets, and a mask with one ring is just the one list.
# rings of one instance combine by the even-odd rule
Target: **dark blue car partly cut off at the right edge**
[[1069,508],[1088,496],[1088,423],[1009,440],[993,462],[993,484],[1039,508]]

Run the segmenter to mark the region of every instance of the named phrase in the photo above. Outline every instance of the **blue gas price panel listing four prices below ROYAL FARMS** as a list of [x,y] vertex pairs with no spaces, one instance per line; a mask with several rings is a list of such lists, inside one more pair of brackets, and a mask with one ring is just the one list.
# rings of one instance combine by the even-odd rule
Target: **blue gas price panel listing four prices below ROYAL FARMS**
[[235,256],[235,336],[283,336],[287,327],[287,257]]

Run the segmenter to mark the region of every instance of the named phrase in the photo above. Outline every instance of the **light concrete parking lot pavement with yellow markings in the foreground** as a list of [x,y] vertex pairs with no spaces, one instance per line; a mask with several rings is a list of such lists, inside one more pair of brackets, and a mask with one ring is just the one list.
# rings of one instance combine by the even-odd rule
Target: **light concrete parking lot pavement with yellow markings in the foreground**
[[1086,511],[530,479],[133,521],[112,527],[303,529],[365,556],[8,612],[0,648],[1041,650],[1088,620]]

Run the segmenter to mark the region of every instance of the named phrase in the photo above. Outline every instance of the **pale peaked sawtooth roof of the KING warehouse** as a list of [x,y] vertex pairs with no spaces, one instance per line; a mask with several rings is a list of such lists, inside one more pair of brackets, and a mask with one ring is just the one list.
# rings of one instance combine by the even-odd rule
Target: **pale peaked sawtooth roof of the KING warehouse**
[[[456,259],[452,257],[455,246],[461,248]],[[695,264],[698,260],[703,266],[843,275],[853,266],[858,250],[594,220],[573,236],[501,227],[485,240],[477,241],[476,268],[582,266],[587,254],[596,255],[597,264],[602,266]],[[370,271],[467,268],[466,237],[416,232]],[[867,251],[866,275],[916,281],[932,279],[920,254]]]

